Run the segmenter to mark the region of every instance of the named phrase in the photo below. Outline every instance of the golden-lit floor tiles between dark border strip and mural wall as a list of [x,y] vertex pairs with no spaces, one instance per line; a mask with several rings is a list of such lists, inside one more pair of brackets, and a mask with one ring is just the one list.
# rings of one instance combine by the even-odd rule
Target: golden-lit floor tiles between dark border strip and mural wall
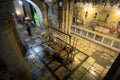
[[[94,77],[97,78],[95,80],[101,80],[106,75],[107,71],[118,55],[118,53],[113,50],[99,46],[95,43],[91,43],[90,41],[87,41],[80,37],[77,41],[76,48],[89,56],[90,59],[88,58],[89,60],[85,61],[82,66],[87,69],[88,72],[90,72],[92,75],[94,75]],[[93,63],[91,62],[91,60]],[[93,71],[91,72],[91,70],[93,70],[94,73]]]

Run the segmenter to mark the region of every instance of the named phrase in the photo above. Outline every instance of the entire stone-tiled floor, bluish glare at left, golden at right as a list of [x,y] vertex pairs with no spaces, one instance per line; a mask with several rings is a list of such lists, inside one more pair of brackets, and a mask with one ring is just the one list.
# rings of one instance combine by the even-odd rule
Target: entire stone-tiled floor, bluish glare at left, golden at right
[[[21,30],[24,33],[20,33]],[[117,52],[79,38],[71,53],[74,56],[71,57],[64,49],[64,45],[70,45],[62,39],[58,39],[57,43],[42,44],[41,30],[32,28],[32,37],[27,36],[21,27],[18,32],[27,45],[25,60],[35,80],[102,80],[118,55]],[[73,57],[74,61],[71,62]]]

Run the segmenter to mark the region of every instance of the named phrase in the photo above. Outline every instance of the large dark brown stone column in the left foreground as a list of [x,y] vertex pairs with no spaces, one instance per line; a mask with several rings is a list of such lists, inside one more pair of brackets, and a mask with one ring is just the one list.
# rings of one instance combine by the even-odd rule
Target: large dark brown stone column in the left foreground
[[0,1],[0,59],[14,80],[32,80],[14,34],[13,12],[12,0]]

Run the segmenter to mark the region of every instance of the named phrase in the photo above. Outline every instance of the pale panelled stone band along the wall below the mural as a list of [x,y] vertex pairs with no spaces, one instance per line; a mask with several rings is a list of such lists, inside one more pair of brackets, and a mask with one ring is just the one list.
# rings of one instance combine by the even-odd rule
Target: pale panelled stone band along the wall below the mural
[[72,25],[71,34],[96,42],[102,46],[120,52],[120,40],[95,31]]

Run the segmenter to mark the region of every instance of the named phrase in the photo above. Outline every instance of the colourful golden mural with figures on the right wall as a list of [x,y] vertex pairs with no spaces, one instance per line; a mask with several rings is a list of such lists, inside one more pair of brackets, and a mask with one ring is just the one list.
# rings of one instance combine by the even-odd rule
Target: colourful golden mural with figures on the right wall
[[111,37],[120,38],[120,21],[115,11],[98,10],[96,8],[96,11],[91,13],[90,11],[84,11],[82,9],[77,10],[79,11],[76,12],[76,9],[74,9],[75,12],[73,11],[73,13],[75,13],[75,15],[73,14],[73,24]]

